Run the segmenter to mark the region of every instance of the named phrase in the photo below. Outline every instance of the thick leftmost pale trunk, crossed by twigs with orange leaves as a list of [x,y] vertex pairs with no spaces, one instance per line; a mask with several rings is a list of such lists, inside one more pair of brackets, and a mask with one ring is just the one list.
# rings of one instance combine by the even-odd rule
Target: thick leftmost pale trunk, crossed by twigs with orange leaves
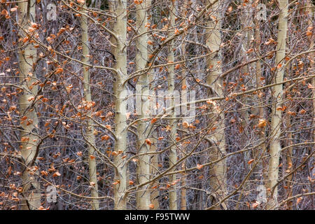
[[[35,0],[29,1],[30,6],[28,7],[28,2],[19,2],[18,3],[18,16],[19,16],[19,25],[25,31],[31,27],[31,22],[35,22]],[[27,8],[29,8],[29,13],[27,13]],[[29,38],[25,31],[19,29],[20,38]],[[20,83],[23,92],[20,94],[19,98],[19,110],[21,118],[27,116],[27,120],[20,121],[20,150],[23,160],[22,167],[22,195],[24,196],[22,200],[22,210],[28,209],[38,209],[41,206],[41,185],[36,180],[36,174],[31,171],[31,167],[36,165],[36,148],[38,144],[38,118],[36,115],[36,105],[32,108],[29,108],[33,103],[33,100],[30,100],[31,97],[36,97],[38,92],[37,85],[33,85],[37,81],[36,73],[34,71],[34,66],[36,62],[37,51],[34,48],[34,43],[31,43],[31,38],[25,43],[22,43],[22,39],[19,41],[19,50],[18,50],[18,60],[19,60],[19,69],[20,69]]]

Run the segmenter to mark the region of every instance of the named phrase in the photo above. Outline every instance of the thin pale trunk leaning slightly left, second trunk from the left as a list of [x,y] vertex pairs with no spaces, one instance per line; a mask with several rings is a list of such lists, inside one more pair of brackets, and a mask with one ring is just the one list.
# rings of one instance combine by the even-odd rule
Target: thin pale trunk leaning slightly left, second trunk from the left
[[[83,8],[81,11],[86,14],[86,4],[84,3]],[[85,64],[89,62],[89,34],[88,34],[88,25],[87,25],[87,17],[81,15],[80,17],[80,26],[82,29],[82,59],[81,61]],[[92,102],[91,99],[91,90],[90,90],[90,71],[89,67],[83,65],[83,93],[84,99],[87,104]],[[87,116],[92,116],[92,108],[87,112]],[[91,187],[91,196],[92,197],[99,197],[99,193],[97,191],[97,166],[95,158],[91,158],[90,155],[94,155],[95,150],[95,139],[94,139],[94,126],[93,121],[91,119],[87,119],[87,127],[86,127],[86,134],[85,137],[88,141],[87,149],[88,149],[88,161],[89,161],[89,174],[90,174],[90,187]],[[99,200],[92,200],[92,209],[98,210],[99,209]]]

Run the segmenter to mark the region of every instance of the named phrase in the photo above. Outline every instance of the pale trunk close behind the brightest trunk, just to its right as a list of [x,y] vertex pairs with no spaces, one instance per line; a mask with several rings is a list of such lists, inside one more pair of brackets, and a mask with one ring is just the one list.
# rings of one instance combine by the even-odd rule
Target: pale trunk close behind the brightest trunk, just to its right
[[[146,32],[146,0],[144,0],[141,4],[136,5],[137,9],[137,30],[139,34],[143,34]],[[144,69],[146,67],[147,59],[148,59],[148,36],[146,34],[139,36],[136,41],[136,68],[137,70]],[[149,128],[149,101],[148,101],[148,73],[139,77],[137,83],[137,93],[141,94],[139,97],[141,100],[141,105],[139,105],[139,109],[141,112],[139,114],[139,119],[141,121],[138,122],[137,125],[137,134],[138,134],[138,153],[144,154],[148,153],[150,146],[146,144],[146,139],[148,139]],[[139,155],[139,162],[137,165],[137,179],[139,184],[145,183],[150,179],[150,155]],[[136,193],[136,202],[137,209],[144,210],[149,209],[150,205],[150,190],[147,188],[149,185],[138,188]]]

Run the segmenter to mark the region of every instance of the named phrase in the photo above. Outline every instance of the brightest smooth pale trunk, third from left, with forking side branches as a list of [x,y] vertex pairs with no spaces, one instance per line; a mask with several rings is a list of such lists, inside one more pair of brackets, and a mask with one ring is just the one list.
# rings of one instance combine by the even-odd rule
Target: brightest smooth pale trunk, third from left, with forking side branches
[[115,68],[118,71],[116,73],[116,82],[113,90],[116,97],[116,113],[115,134],[117,141],[115,143],[115,151],[122,151],[120,155],[117,155],[113,162],[117,169],[115,171],[114,185],[114,209],[121,210],[127,208],[126,198],[124,197],[127,187],[127,163],[123,160],[122,155],[125,155],[127,148],[127,88],[124,84],[127,79],[127,50],[125,48],[127,33],[127,1],[119,0],[116,7],[116,23],[113,31],[118,39],[115,41],[116,48],[113,49],[113,55],[116,58]]

